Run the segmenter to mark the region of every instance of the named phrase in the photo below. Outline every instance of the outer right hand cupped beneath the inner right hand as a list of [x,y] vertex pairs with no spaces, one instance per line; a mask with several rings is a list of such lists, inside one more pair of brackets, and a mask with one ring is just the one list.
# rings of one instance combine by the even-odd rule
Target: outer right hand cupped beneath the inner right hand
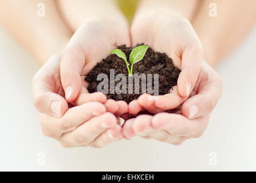
[[[206,129],[221,92],[222,82],[219,75],[203,62],[191,97],[177,109],[176,114],[137,116],[125,122],[123,134],[127,139],[131,139],[136,134],[174,145],[182,144],[188,138],[198,138]],[[179,114],[180,112],[182,114]]]

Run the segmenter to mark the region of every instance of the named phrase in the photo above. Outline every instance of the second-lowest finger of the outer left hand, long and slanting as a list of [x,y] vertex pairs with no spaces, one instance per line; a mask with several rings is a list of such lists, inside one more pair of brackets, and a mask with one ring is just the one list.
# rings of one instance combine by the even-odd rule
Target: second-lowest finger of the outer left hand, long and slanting
[[105,130],[116,125],[116,117],[111,113],[104,113],[86,121],[76,130],[64,133],[61,138],[61,144],[65,147],[87,145]]

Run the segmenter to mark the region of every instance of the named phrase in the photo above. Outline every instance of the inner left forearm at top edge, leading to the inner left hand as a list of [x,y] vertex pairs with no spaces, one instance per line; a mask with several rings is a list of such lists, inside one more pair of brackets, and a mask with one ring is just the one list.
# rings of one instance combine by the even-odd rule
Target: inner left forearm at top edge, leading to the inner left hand
[[124,19],[115,0],[58,0],[62,15],[72,30],[92,18]]

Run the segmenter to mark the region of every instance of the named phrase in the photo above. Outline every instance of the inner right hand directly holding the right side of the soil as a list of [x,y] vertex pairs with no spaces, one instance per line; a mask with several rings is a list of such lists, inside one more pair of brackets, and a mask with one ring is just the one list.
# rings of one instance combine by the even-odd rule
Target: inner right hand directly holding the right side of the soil
[[151,113],[177,108],[190,96],[198,79],[203,60],[203,49],[190,22],[180,15],[162,11],[146,11],[136,15],[131,26],[132,43],[144,43],[155,51],[166,53],[181,71],[178,86],[169,94],[151,100],[148,94],[141,95],[129,104],[129,113],[140,110]]

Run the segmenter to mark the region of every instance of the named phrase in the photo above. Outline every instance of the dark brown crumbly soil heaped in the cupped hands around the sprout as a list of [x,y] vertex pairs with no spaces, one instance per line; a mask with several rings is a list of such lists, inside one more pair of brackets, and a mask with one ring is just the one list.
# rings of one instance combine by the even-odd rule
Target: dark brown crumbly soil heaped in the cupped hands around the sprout
[[[126,47],[125,45],[123,45],[119,46],[118,49],[122,50],[125,53],[128,61],[129,55],[132,51],[132,47]],[[107,98],[112,98],[116,101],[123,100],[127,102],[127,104],[129,104],[129,102],[135,100],[136,98],[139,98],[139,96],[141,95],[141,81],[139,94],[134,94],[134,92],[133,94],[128,94],[129,77],[127,66],[124,60],[117,57],[117,55],[115,54],[111,54],[107,58],[103,59],[101,62],[97,63],[97,65],[94,66],[90,73],[85,77],[85,80],[89,82],[89,93],[97,92],[97,85],[101,82],[97,81],[98,74],[104,73],[108,75],[108,78],[110,78],[110,69],[115,69],[115,76],[120,73],[127,76],[127,94],[110,94],[110,85],[108,85],[108,94],[106,94]],[[141,73],[152,74],[152,80],[154,78],[154,74],[159,74],[159,95],[164,95],[169,93],[170,89],[172,89],[173,86],[177,85],[180,70],[178,69],[178,67],[173,65],[172,59],[168,58],[165,53],[155,52],[149,47],[144,58],[140,62],[137,62],[133,65],[133,74]],[[120,81],[115,81],[115,86],[119,82]],[[134,82],[135,81],[133,79],[133,86]],[[153,81],[152,89],[154,89]],[[147,93],[149,93],[148,90]]]

